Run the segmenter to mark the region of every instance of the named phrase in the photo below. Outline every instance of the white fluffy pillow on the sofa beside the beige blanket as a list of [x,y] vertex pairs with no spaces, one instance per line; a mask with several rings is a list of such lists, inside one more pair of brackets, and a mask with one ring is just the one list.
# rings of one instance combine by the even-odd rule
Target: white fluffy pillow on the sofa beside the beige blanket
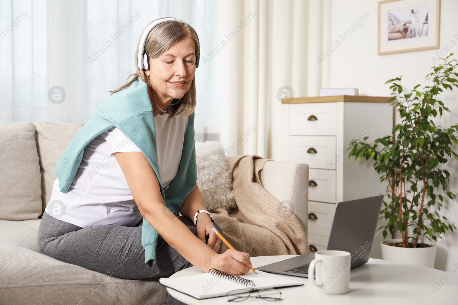
[[236,207],[224,148],[217,141],[196,142],[197,185],[208,211]]

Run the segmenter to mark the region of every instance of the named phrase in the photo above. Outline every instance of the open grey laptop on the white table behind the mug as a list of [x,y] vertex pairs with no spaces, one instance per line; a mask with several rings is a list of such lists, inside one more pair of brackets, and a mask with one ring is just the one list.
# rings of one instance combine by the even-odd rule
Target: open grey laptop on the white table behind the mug
[[[382,203],[383,195],[337,203],[327,250],[349,252],[352,269],[369,260]],[[315,254],[303,254],[255,269],[308,278],[314,258]]]

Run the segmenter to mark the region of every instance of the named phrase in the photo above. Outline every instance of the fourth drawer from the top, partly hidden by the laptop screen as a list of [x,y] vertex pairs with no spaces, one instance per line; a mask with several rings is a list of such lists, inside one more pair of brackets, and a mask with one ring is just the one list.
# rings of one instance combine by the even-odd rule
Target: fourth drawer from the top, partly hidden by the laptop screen
[[335,212],[334,203],[309,201],[309,233],[316,236],[326,235],[329,238]]

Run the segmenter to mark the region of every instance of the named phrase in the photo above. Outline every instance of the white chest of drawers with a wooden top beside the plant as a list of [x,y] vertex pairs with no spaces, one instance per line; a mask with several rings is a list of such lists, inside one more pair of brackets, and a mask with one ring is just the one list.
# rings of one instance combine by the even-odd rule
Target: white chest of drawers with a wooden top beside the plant
[[[308,242],[326,250],[336,203],[376,196],[385,187],[372,162],[349,159],[352,139],[373,141],[392,132],[389,97],[322,96],[283,100],[288,105],[283,159],[309,165]],[[290,104],[291,103],[291,104]],[[306,194],[305,194],[306,195]]]

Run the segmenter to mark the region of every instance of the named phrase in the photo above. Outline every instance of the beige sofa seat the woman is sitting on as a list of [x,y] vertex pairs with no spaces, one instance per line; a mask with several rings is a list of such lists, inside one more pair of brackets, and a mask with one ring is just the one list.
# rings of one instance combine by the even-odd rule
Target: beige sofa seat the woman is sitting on
[[38,253],[40,221],[0,221],[1,304],[166,304],[157,280],[114,278]]

